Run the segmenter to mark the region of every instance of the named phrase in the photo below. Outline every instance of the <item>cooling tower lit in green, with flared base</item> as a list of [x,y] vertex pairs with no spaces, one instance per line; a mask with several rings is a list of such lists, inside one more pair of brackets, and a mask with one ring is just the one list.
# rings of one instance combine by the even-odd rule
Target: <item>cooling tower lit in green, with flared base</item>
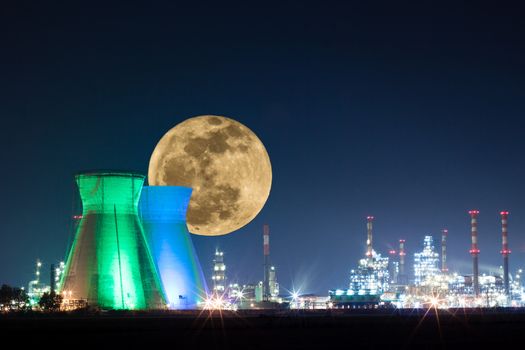
[[164,308],[164,293],[137,215],[144,176],[85,173],[77,175],[76,182],[82,219],[61,292],[103,309]]

